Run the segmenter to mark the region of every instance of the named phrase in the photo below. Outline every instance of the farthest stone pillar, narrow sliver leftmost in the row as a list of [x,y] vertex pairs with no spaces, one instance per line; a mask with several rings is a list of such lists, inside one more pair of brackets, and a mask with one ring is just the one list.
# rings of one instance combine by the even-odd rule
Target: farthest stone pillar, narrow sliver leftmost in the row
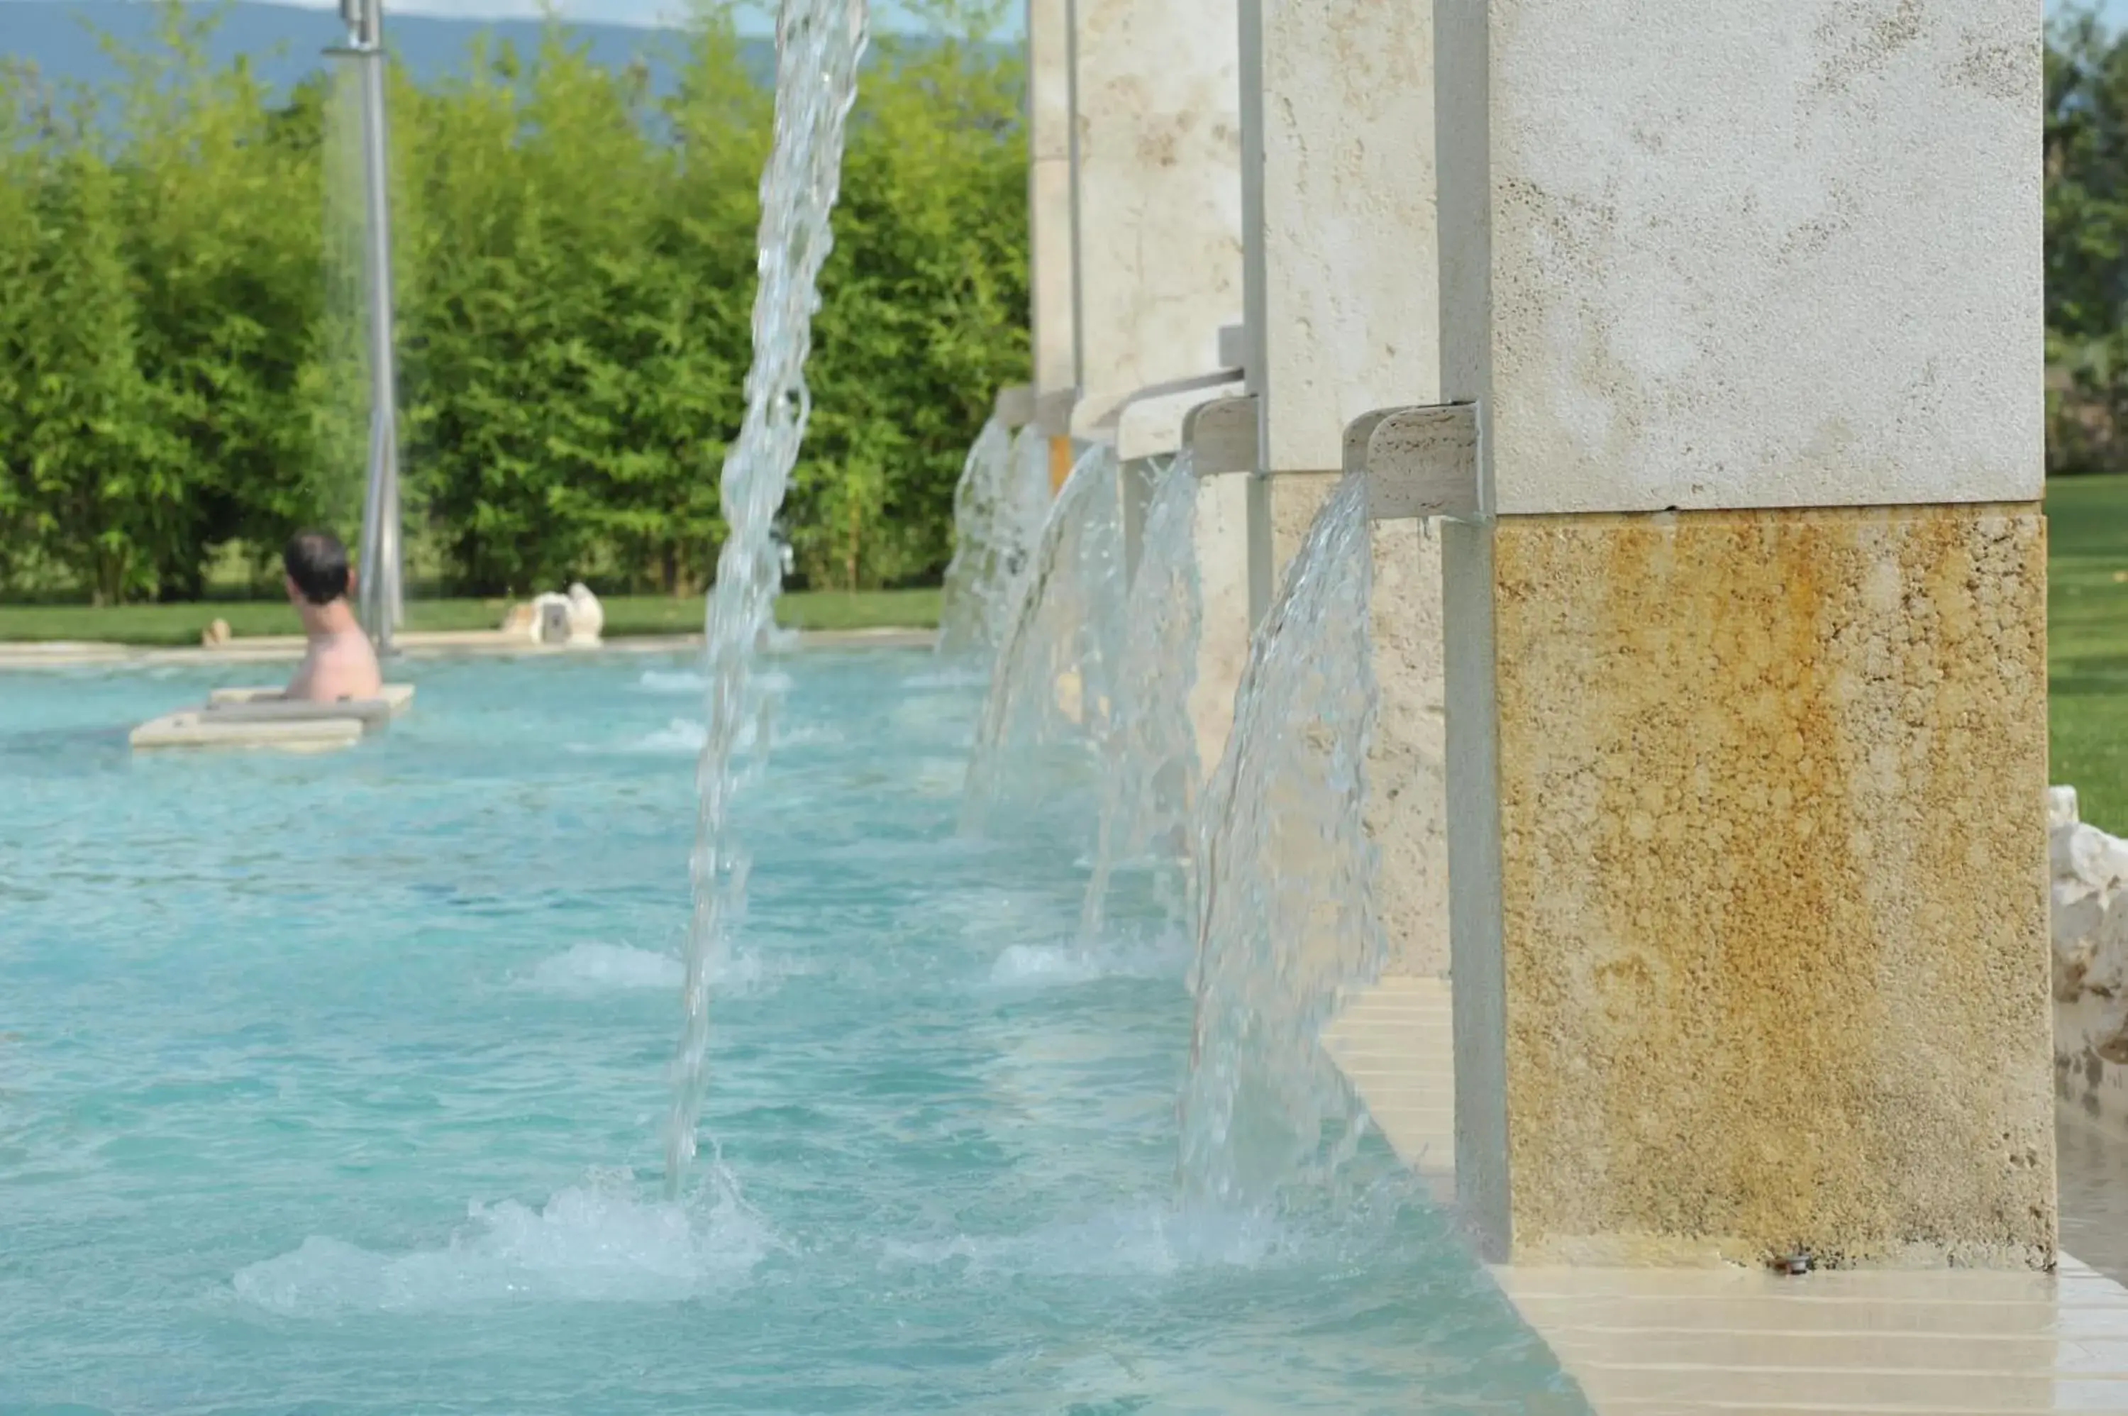
[[1034,392],[1049,434],[1049,485],[1070,475],[1073,330],[1070,0],[1028,0],[1028,300]]

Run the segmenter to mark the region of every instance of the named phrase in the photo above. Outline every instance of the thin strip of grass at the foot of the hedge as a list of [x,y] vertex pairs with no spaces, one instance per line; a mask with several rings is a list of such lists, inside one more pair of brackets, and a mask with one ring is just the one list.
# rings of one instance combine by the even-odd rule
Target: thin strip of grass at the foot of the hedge
[[[700,635],[702,600],[664,594],[621,594],[600,600],[606,637]],[[411,630],[492,630],[502,624],[504,600],[406,600]],[[192,645],[213,620],[228,620],[245,635],[296,635],[296,611],[279,600],[209,600],[202,605],[0,605],[0,643],[92,639],[104,643]],[[802,590],[777,600],[777,624],[796,630],[870,630],[938,624],[936,590]]]

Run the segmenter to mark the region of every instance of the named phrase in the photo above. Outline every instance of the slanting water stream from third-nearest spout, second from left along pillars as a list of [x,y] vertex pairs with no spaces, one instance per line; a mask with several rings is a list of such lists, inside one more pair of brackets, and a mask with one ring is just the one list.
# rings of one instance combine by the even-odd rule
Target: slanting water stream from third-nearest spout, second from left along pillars
[[[1007,788],[1041,794],[1049,758],[1073,764],[1109,739],[1124,641],[1124,515],[1113,447],[1073,466],[1043,526],[1034,573],[998,652],[968,764],[964,826],[981,830]],[[1011,760],[1011,781],[1002,767]]]

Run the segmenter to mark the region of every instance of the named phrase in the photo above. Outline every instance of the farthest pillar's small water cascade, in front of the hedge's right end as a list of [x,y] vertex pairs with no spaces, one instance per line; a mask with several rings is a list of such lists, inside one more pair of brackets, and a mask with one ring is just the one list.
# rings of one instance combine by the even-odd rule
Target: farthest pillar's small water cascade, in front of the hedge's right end
[[945,571],[938,654],[990,656],[1013,628],[1028,569],[1049,515],[1049,447],[983,424],[953,488],[953,562]]

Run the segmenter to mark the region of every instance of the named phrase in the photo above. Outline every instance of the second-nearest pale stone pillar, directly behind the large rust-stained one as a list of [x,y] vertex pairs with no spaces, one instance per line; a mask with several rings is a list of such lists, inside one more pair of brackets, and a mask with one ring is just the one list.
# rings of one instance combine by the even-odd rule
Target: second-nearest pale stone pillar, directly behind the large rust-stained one
[[[1251,620],[1343,466],[1345,424],[1439,396],[1432,4],[1243,0]],[[1392,973],[1443,973],[1439,539],[1375,526],[1368,833]],[[1232,690],[1228,690],[1232,692]]]

